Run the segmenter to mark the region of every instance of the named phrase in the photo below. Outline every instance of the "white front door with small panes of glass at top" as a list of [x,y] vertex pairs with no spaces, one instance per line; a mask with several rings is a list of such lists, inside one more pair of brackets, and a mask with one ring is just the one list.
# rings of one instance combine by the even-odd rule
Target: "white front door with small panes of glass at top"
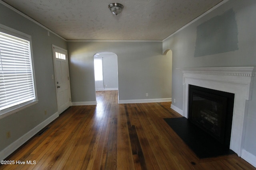
[[53,47],[55,83],[57,89],[57,103],[59,114],[71,106],[70,81],[68,72],[67,51],[56,46]]

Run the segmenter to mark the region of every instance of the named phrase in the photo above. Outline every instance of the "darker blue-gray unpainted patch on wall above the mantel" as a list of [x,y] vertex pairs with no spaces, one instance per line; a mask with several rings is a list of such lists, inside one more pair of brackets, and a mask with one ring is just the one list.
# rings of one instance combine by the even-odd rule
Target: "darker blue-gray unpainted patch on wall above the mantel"
[[238,50],[238,29],[232,9],[197,27],[194,57]]

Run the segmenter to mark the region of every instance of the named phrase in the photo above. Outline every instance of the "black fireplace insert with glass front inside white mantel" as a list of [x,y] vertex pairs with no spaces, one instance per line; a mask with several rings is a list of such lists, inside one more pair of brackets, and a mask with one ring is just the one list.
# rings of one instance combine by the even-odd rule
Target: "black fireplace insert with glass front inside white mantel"
[[229,148],[234,94],[189,85],[188,120]]

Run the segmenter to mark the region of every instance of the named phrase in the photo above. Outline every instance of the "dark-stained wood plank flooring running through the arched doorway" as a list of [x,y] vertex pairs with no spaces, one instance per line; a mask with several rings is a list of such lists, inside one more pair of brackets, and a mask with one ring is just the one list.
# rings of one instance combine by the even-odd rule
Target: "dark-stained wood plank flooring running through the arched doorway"
[[118,104],[117,91],[97,92],[97,106],[72,106],[34,136],[0,170],[255,170],[236,154],[199,159],[163,118],[180,117],[170,102]]

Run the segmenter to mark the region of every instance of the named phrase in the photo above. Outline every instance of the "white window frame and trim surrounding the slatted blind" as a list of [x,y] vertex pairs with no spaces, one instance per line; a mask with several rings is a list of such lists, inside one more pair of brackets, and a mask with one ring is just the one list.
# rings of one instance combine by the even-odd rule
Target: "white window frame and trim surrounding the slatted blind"
[[37,98],[37,92],[36,92],[36,78],[35,78],[35,72],[34,72],[34,61],[33,61],[33,52],[32,52],[32,37],[30,35],[27,35],[25,33],[17,31],[16,29],[12,29],[12,28],[7,27],[2,24],[0,24],[0,32],[29,41],[29,43],[30,43],[30,58],[31,58],[30,62],[32,65],[32,78],[33,78],[34,93],[35,93],[35,99],[33,99],[33,100],[0,110],[0,119],[2,119],[4,117],[7,117],[13,113],[17,113],[18,111],[21,111],[22,109],[25,109],[27,107],[30,107],[30,106],[38,103],[38,98]]

